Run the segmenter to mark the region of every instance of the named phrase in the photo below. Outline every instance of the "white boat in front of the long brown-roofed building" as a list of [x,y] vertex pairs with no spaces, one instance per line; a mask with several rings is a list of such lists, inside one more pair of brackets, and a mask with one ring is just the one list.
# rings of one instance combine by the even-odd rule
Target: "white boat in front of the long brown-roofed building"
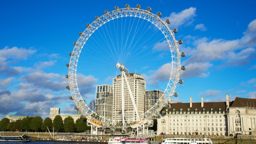
[[209,138],[166,138],[161,144],[213,144]]

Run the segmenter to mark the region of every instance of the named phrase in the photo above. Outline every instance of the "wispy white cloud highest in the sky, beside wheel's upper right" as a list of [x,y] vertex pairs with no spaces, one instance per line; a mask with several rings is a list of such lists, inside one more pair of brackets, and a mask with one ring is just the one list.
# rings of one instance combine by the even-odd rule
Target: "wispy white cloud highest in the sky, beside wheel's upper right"
[[190,7],[188,9],[182,10],[179,13],[172,12],[170,16],[163,17],[162,20],[169,19],[170,24],[168,25],[170,28],[178,28],[179,26],[186,24],[189,25],[194,21],[194,17],[196,16],[196,8]]

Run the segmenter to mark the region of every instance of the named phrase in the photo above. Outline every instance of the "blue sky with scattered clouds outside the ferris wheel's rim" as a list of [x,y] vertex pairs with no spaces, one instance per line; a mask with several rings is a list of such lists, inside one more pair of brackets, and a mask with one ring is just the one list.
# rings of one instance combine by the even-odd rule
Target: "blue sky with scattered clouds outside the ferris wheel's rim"
[[[49,117],[50,107],[75,114],[66,89],[69,52],[78,33],[104,10],[125,4],[152,13],[160,11],[168,26],[183,40],[180,78],[184,84],[173,102],[223,102],[236,97],[256,98],[256,12],[254,0],[230,1],[0,1],[0,118],[6,115]],[[82,75],[87,76],[87,75]],[[94,77],[96,78],[96,77]],[[150,83],[150,82],[148,82]],[[87,103],[95,88],[85,84]],[[161,89],[156,88],[156,89]]]

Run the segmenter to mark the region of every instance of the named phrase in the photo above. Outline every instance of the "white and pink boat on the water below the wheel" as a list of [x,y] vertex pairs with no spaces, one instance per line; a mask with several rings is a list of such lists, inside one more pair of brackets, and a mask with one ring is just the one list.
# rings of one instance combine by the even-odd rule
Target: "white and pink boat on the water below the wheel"
[[152,144],[152,143],[142,139],[133,140],[133,139],[125,139],[123,137],[116,137],[116,138],[110,138],[108,140],[108,144]]

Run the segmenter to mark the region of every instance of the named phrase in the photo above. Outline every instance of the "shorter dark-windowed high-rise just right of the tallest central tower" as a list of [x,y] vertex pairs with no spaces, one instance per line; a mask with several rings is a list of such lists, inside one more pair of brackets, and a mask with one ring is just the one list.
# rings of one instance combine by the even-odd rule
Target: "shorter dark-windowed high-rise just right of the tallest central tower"
[[160,90],[147,90],[145,95],[145,112],[152,108],[161,97],[164,100],[165,96],[162,96],[163,94],[164,92]]

